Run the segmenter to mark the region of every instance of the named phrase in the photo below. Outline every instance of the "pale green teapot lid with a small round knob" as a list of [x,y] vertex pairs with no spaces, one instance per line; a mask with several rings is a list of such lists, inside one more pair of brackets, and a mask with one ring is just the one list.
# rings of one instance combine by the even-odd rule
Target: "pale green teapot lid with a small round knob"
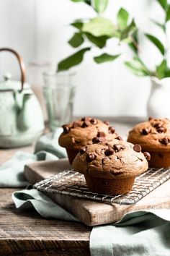
[[[21,81],[12,80],[12,74],[9,72],[6,72],[4,74],[4,81],[0,82],[0,91],[6,91],[6,90],[21,90]],[[24,82],[23,89],[30,89],[30,85],[27,82]]]

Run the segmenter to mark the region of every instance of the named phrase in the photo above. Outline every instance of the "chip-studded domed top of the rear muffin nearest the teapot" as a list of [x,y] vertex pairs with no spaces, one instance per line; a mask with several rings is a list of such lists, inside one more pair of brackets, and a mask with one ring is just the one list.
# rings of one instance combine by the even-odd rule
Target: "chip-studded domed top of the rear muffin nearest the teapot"
[[86,116],[71,124],[64,124],[58,142],[64,148],[79,150],[82,146],[91,145],[92,140],[111,142],[115,137],[118,137],[115,128],[109,126],[108,121]]

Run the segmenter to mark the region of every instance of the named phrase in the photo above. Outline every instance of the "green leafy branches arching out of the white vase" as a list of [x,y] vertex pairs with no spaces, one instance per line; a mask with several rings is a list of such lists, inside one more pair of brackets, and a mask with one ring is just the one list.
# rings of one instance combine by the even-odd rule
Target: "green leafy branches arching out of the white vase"
[[[112,20],[101,16],[102,12],[107,9],[109,0],[71,1],[84,2],[84,4],[87,4],[97,12],[97,17],[89,20],[76,20],[71,23],[71,26],[75,28],[76,32],[71,39],[68,40],[68,43],[73,48],[78,48],[78,51],[75,54],[68,56],[68,58],[62,60],[58,64],[58,72],[80,64],[87,51],[91,51],[95,47],[102,49],[107,45],[108,40],[117,38],[120,42],[120,46],[122,43],[125,43],[133,51],[133,59],[131,61],[125,61],[126,67],[128,67],[133,74],[138,76],[155,76],[159,79],[170,77],[170,69],[167,66],[166,61],[167,46],[164,46],[161,40],[156,38],[154,35],[146,34],[146,38],[156,46],[163,59],[154,71],[149,70],[148,67],[146,67],[146,64],[143,63],[140,58],[138,27],[135,24],[135,20],[130,17],[129,13],[125,9],[120,8],[117,12],[117,22],[116,24],[113,24]],[[161,27],[166,35],[166,23],[170,20],[170,4],[168,4],[167,0],[156,1],[158,1],[160,7],[164,10],[165,19],[162,24],[155,20],[153,20],[153,22],[158,25],[158,27]],[[85,42],[89,44],[89,47],[80,48]],[[102,64],[107,61],[115,61],[119,56],[120,54],[112,55],[106,52],[103,53],[102,51],[102,54],[99,56],[94,56],[94,61],[97,64]]]

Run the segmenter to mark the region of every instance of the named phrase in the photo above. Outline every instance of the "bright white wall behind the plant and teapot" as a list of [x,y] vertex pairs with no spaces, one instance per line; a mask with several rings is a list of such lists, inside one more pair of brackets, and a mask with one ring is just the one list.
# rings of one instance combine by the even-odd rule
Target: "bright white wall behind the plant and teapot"
[[[114,20],[120,7],[125,7],[135,17],[141,30],[161,35],[149,20],[163,17],[156,0],[110,0],[104,15]],[[74,51],[66,43],[73,34],[68,24],[78,18],[94,16],[90,7],[73,4],[70,0],[0,0],[0,47],[15,48],[27,66],[32,61],[49,61],[55,65]],[[160,55],[142,35],[140,40],[143,59],[152,66],[160,60]],[[107,52],[116,54],[118,51],[116,44],[110,41]],[[127,49],[125,53],[124,59],[130,58]],[[94,54],[98,54],[98,50]],[[17,62],[12,56],[1,53],[0,57],[0,74],[9,70],[19,79]],[[77,72],[75,115],[146,116],[150,81],[131,74],[121,58],[97,65],[91,53],[87,53],[83,64],[74,70]]]

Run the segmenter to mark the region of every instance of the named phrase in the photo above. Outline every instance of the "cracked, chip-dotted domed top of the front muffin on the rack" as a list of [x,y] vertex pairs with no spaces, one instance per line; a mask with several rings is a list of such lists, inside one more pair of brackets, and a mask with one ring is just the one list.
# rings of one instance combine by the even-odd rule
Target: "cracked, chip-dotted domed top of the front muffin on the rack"
[[148,169],[146,158],[140,145],[122,140],[112,143],[95,143],[81,148],[73,161],[73,168],[81,174],[89,174],[105,179],[122,179],[142,174]]

